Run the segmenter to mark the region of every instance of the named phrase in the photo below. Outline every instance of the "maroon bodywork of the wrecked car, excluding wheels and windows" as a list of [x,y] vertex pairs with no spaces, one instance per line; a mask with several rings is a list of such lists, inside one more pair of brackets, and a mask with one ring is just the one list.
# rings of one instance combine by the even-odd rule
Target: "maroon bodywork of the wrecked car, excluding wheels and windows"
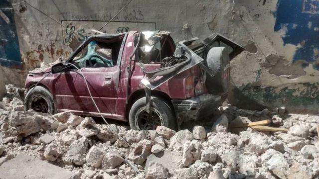
[[[80,69],[104,117],[128,121],[128,114],[133,103],[146,95],[145,87],[141,84],[141,80],[146,79],[146,73],[139,65],[141,62],[136,60],[136,55],[132,55],[138,33],[127,32],[89,37],[68,60],[73,63],[76,60],[75,57],[92,41],[117,45],[118,48],[113,50],[118,55],[113,55],[117,58],[113,59],[112,66],[82,67]],[[162,56],[160,60],[174,55],[176,47],[169,35],[160,40],[160,44],[160,56]],[[133,59],[130,59],[132,56]],[[145,63],[143,67],[152,71],[160,69],[160,63]],[[43,79],[45,72],[49,71],[50,68],[43,69],[41,73],[29,73],[25,81],[25,88],[31,89],[37,84],[47,89],[53,96],[56,111],[71,110],[79,115],[100,115],[81,74],[76,70],[66,70],[61,73],[48,74]],[[229,69],[227,73],[229,76]],[[199,65],[194,65],[180,71],[153,89],[152,96],[159,96],[162,100],[166,100],[169,105],[173,106],[172,110],[176,118],[185,121],[210,115],[216,106],[223,102],[226,93],[211,94],[206,88],[203,71]]]

